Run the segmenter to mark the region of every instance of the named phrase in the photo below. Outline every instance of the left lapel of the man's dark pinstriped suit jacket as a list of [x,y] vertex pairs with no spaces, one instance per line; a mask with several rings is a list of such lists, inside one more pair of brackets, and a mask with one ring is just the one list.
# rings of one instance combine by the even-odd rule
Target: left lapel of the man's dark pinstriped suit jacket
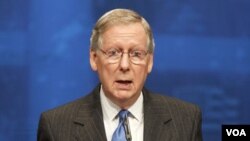
[[99,93],[100,87],[95,88],[79,107],[74,121],[76,139],[79,141],[106,141]]

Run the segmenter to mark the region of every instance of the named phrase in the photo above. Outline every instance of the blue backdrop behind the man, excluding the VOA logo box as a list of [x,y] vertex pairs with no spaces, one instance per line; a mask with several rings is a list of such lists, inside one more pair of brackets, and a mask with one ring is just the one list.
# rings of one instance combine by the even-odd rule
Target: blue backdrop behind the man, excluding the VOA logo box
[[249,0],[0,0],[0,140],[34,141],[39,115],[86,95],[95,21],[138,11],[156,41],[147,87],[198,104],[205,141],[250,124]]

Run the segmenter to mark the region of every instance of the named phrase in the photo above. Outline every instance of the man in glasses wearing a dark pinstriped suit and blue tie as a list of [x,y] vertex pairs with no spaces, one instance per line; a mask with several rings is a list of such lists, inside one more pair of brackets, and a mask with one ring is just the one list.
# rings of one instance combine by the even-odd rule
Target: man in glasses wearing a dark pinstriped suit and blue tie
[[147,21],[115,9],[96,23],[90,65],[100,84],[86,97],[44,112],[39,141],[201,141],[201,112],[144,88],[153,67]]

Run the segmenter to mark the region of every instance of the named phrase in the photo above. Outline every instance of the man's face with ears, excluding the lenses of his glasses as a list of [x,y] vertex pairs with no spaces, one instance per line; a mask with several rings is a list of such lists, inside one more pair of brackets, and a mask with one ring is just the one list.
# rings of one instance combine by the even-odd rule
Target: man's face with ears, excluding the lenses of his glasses
[[139,63],[130,61],[127,52],[147,51],[147,35],[139,23],[115,25],[102,35],[101,50],[115,48],[125,52],[117,63],[110,63],[100,50],[90,52],[90,64],[98,72],[105,95],[121,108],[128,108],[139,97],[141,89],[151,72],[153,54],[148,53]]

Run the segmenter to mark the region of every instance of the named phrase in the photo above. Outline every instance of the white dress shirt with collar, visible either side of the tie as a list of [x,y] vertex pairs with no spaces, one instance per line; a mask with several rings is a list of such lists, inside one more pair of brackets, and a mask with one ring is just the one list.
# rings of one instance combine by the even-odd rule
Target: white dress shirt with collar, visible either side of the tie
[[[101,106],[103,113],[103,122],[107,141],[111,141],[112,135],[119,124],[119,117],[117,114],[121,108],[115,105],[110,99],[106,97],[101,87],[100,91]],[[130,112],[128,116],[130,131],[132,134],[132,141],[143,141],[143,95],[142,92],[137,101],[127,109]]]

